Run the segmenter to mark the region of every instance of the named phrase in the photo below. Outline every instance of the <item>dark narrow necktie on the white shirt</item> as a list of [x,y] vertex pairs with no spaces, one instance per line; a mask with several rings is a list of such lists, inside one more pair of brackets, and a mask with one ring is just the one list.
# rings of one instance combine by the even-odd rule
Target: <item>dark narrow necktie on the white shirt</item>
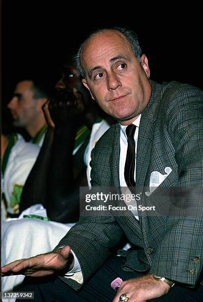
[[127,135],[128,149],[125,160],[124,177],[128,187],[135,187],[135,134],[136,126],[131,124],[127,126],[125,133]]

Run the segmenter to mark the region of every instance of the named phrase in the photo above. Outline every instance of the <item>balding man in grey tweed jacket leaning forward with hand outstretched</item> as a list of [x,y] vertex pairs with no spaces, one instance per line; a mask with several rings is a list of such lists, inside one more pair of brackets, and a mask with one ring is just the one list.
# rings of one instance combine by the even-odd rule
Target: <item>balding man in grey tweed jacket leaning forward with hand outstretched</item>
[[[78,224],[59,242],[55,252],[2,268],[3,272],[20,272],[24,268],[24,273],[32,276],[44,276],[55,270],[61,275],[60,270],[67,272],[73,268],[61,279],[79,291],[74,292],[59,279],[53,281],[46,277],[47,283],[38,287],[40,295],[47,301],[55,297],[51,294],[51,288],[56,294],[55,284],[71,301],[114,299],[116,302],[119,297],[119,301],[154,301],[159,297],[157,301],[186,301],[190,295],[194,301],[201,301],[198,299],[203,294],[203,287],[199,284],[203,267],[200,196],[203,183],[203,92],[178,82],[161,85],[151,81],[147,58],[141,56],[137,37],[133,35],[123,29],[96,32],[81,46],[76,63],[92,98],[122,126],[136,122],[141,114],[137,125],[136,187],[143,188],[145,198],[138,204],[155,206],[159,211],[154,215],[138,211],[139,221],[131,211],[123,211],[122,215],[114,215],[113,211],[108,215],[101,211],[81,215]],[[114,124],[92,151],[91,193],[96,192],[97,187],[114,187],[120,192],[120,132],[119,124]],[[159,188],[154,192],[149,188],[149,192],[145,192],[144,188],[149,187],[155,171],[165,175],[162,188],[182,189],[182,195],[174,196],[176,191],[173,190],[174,195],[170,191],[163,196]],[[120,202],[120,206],[123,204]],[[123,257],[117,259],[123,261],[114,257],[110,258],[109,264],[112,249],[124,234],[132,248],[120,252]],[[70,248],[75,259],[72,263]],[[116,265],[120,261],[122,269],[116,265],[112,267],[114,261]],[[75,267],[77,263],[79,268]],[[119,293],[113,298],[115,294],[107,287],[116,274],[128,281],[121,284]],[[164,278],[167,282],[163,282]],[[100,280],[99,285],[95,279]],[[40,278],[38,283],[42,283]],[[173,283],[170,291],[169,284]],[[196,289],[191,290],[193,287]],[[31,289],[32,285],[24,287],[27,291]],[[48,289],[49,299],[45,298]],[[124,298],[121,294],[125,295]]]

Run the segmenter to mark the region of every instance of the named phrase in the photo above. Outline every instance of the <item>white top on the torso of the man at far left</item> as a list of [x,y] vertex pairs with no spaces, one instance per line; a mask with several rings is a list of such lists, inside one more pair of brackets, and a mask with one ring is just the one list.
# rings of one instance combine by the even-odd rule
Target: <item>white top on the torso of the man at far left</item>
[[24,186],[39,150],[38,146],[25,142],[23,137],[18,134],[18,140],[10,151],[1,183],[1,190],[8,204],[7,212],[19,212],[19,204],[11,206],[11,199],[14,199],[15,189]]

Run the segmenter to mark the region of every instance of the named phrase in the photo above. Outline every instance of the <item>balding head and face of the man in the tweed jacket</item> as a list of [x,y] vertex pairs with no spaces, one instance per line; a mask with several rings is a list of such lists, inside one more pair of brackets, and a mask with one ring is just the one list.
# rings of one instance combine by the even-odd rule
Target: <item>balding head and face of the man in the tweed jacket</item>
[[145,55],[134,56],[128,40],[107,31],[90,38],[82,53],[84,85],[92,98],[120,123],[130,124],[148,104],[151,85]]

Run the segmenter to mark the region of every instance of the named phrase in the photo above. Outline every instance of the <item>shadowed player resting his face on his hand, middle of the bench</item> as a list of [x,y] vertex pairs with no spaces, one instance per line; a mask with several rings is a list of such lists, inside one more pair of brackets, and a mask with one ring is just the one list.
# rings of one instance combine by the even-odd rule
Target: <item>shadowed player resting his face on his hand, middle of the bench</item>
[[[89,182],[87,167],[94,141],[110,127],[112,120],[101,118],[105,114],[92,102],[70,57],[63,65],[55,88],[55,95],[44,106],[46,109],[49,106],[52,116],[47,133],[52,139],[48,140],[49,147],[43,146],[44,151],[40,152],[29,176],[20,210],[42,203],[51,220],[73,223],[79,218],[79,188],[86,187]],[[75,99],[72,103],[71,94]],[[42,180],[37,175],[41,175]]]

